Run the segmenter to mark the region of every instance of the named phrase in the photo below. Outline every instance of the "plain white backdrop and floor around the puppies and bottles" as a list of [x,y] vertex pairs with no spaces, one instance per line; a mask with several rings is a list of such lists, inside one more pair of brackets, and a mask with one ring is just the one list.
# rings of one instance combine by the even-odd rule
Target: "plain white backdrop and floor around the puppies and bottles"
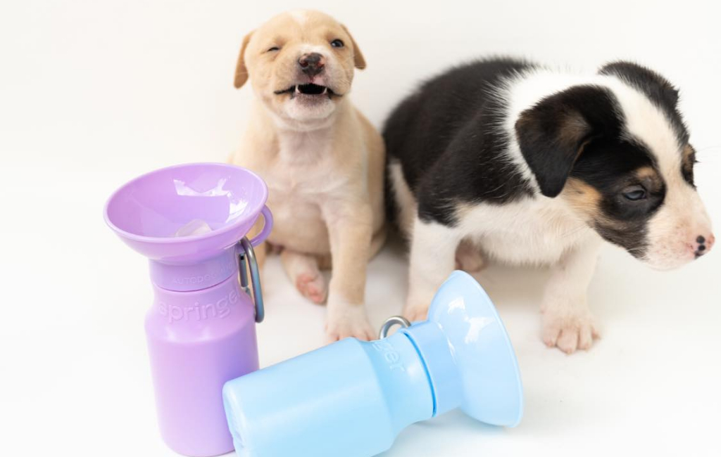
[[[417,81],[491,53],[593,71],[613,58],[681,86],[721,225],[717,1],[317,2],[368,61],[355,104],[376,125]],[[6,1],[0,6],[0,453],[172,455],[156,429],[143,335],[146,261],[102,221],[129,178],[224,160],[249,88],[232,87],[243,35],[283,1]],[[718,235],[718,233],[717,233]],[[721,248],[717,248],[719,250]],[[658,273],[603,251],[590,304],[604,327],[565,356],[539,334],[547,271],[492,266],[479,280],[516,346],[526,415],[516,429],[458,412],[405,430],[386,456],[721,455],[721,253]],[[406,266],[370,266],[373,325],[399,312]],[[267,266],[263,366],[318,347],[324,308]]]

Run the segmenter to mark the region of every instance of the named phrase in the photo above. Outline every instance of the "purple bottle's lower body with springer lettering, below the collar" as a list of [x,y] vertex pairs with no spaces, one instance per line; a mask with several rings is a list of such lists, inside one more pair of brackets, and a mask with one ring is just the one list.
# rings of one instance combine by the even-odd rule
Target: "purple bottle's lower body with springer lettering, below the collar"
[[232,451],[226,381],[258,368],[255,309],[237,274],[197,291],[154,284],[146,335],[161,435],[193,457]]

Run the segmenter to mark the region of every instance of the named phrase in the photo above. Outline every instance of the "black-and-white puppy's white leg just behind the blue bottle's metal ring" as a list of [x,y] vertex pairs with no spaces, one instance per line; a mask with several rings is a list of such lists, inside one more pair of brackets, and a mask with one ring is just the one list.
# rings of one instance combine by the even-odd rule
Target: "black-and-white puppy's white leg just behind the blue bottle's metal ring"
[[413,222],[408,300],[403,315],[411,322],[425,320],[435,291],[454,270],[458,230],[438,222]]

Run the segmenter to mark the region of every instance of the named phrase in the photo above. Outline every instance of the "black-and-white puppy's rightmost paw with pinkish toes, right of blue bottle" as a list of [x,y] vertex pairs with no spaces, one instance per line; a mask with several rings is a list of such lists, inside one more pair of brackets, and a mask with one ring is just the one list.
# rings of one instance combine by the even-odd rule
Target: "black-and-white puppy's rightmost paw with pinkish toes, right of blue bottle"
[[556,346],[567,354],[588,350],[600,336],[588,309],[544,309],[543,341],[549,348]]

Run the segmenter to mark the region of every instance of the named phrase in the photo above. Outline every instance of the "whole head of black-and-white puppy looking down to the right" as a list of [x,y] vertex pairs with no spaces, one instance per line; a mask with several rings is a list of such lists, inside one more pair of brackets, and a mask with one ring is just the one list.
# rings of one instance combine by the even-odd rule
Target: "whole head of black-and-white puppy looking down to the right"
[[654,268],[708,253],[715,238],[676,90],[638,65],[601,73],[603,85],[574,86],[521,114],[519,144],[541,192]]

